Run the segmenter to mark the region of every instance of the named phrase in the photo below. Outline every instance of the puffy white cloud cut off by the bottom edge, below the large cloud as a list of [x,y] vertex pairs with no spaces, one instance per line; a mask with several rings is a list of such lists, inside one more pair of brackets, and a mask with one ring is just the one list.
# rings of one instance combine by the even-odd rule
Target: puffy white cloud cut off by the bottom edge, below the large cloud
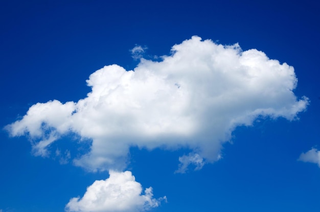
[[142,194],[142,186],[135,181],[131,172],[109,171],[109,178],[96,180],[87,187],[82,198],[72,198],[66,205],[67,211],[81,212],[133,212],[148,210],[159,206],[166,197],[154,199],[152,187],[149,187]]

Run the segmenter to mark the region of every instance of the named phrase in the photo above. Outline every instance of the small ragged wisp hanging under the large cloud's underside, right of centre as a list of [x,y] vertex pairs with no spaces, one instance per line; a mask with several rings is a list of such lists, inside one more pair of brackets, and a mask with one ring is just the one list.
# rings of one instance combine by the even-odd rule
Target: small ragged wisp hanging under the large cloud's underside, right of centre
[[204,165],[203,158],[200,155],[195,153],[189,153],[188,155],[183,155],[179,157],[179,168],[175,171],[175,173],[186,173],[188,167],[192,164],[195,166],[194,170],[202,169]]

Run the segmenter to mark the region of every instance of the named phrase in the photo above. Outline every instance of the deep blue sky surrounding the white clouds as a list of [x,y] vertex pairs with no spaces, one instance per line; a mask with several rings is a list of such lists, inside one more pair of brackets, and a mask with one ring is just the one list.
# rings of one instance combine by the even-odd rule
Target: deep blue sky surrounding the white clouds
[[[319,211],[320,169],[297,161],[320,145],[319,9],[316,1],[2,1],[0,126],[37,102],[84,98],[85,80],[104,65],[134,68],[129,50],[136,44],[147,46],[148,57],[168,55],[193,35],[238,42],[292,65],[294,93],[310,99],[307,111],[293,122],[238,127],[223,159],[199,171],[174,174],[184,150],[137,148],[128,170],[155,197],[167,196],[152,211]],[[1,212],[63,211],[70,198],[108,177],[35,157],[24,136],[0,136]]]

